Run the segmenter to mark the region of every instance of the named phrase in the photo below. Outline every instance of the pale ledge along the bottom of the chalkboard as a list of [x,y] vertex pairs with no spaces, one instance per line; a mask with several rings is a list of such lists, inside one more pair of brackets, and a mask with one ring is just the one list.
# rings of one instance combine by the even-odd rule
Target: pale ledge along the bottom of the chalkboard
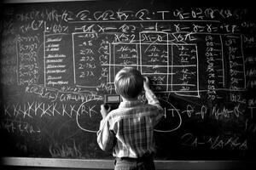
[[[3,166],[34,167],[35,169],[113,169],[113,160],[83,160],[34,157],[3,157]],[[255,161],[154,161],[156,169],[221,170],[255,169]],[[20,168],[19,168],[20,169]]]

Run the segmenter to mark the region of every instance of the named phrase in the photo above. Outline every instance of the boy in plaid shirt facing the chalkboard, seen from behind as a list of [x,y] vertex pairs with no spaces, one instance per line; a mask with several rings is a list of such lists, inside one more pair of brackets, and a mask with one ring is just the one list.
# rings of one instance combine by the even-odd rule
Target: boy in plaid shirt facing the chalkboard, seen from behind
[[[109,113],[101,105],[102,122],[97,142],[102,150],[113,149],[115,170],[154,169],[154,126],[160,122],[163,109],[149,88],[148,77],[125,67],[115,76],[114,86],[122,102]],[[137,99],[143,88],[148,99],[146,105]]]

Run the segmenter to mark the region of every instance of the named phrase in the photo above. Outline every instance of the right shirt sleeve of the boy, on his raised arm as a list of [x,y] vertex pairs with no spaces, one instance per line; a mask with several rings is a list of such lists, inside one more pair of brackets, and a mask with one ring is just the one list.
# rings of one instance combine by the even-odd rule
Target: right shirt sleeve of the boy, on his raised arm
[[152,90],[146,89],[145,90],[145,96],[148,99],[149,105],[154,105],[157,107],[156,115],[154,117],[154,125],[156,125],[158,122],[160,122],[160,119],[162,116],[164,116],[164,109],[160,106],[160,102],[157,99],[157,97],[154,95]]

